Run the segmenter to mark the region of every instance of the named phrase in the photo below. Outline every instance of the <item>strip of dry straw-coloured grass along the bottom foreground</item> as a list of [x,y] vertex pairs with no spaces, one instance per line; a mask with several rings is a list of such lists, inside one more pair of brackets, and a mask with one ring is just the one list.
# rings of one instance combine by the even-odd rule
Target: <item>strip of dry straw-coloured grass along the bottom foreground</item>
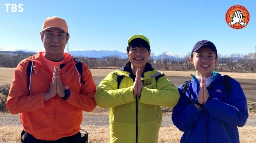
[[[108,143],[108,126],[82,126],[89,133],[90,143]],[[19,143],[21,126],[0,127],[0,143]],[[256,142],[256,127],[244,126],[238,128],[241,143]],[[179,143],[182,131],[174,126],[161,127],[159,132],[159,143]]]

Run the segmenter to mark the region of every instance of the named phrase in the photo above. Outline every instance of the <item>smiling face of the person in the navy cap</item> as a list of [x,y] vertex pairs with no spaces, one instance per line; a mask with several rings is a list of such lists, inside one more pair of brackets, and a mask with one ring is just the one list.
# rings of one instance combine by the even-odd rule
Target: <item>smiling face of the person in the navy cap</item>
[[195,66],[198,77],[210,77],[217,64],[216,53],[209,47],[202,47],[193,52],[190,62]]

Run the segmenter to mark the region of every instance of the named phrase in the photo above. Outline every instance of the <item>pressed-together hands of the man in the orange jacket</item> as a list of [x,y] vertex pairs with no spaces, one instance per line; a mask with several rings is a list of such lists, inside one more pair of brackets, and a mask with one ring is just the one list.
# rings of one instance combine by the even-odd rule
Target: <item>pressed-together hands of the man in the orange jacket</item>
[[43,95],[43,101],[47,101],[48,99],[54,97],[56,94],[60,97],[65,96],[65,89],[60,79],[60,68],[54,67],[52,82],[50,83],[50,89],[48,92],[45,92]]

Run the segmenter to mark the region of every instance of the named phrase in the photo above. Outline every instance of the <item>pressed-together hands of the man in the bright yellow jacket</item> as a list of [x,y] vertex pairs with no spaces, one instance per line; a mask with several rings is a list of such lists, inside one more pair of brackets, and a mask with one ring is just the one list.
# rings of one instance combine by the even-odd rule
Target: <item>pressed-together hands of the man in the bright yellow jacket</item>
[[142,90],[141,71],[140,71],[140,69],[137,69],[135,81],[133,83],[133,96],[134,97],[136,97],[136,96],[140,97],[141,96],[141,90]]

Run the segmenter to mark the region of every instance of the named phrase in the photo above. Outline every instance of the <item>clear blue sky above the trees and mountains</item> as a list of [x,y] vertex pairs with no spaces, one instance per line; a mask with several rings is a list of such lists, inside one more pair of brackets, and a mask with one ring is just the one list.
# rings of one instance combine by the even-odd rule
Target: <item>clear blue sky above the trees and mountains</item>
[[[6,12],[5,3],[23,4],[23,12]],[[242,5],[250,13],[248,25],[230,28],[225,13]],[[18,8],[19,9],[19,8]],[[66,20],[69,51],[117,50],[126,52],[127,39],[146,35],[155,55],[186,55],[199,40],[210,40],[221,54],[255,52],[256,1],[252,0],[1,0],[2,51],[44,51],[40,40],[49,16]]]

